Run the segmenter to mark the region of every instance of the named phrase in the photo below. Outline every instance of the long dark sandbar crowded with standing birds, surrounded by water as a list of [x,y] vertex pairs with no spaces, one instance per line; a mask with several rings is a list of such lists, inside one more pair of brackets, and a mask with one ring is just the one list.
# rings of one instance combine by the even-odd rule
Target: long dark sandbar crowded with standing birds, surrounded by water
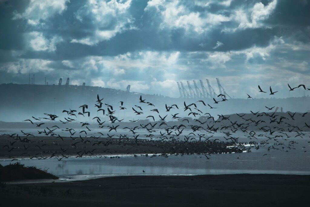
[[[33,159],[49,159],[52,155],[57,157],[70,156],[100,156],[120,154],[192,154],[192,153],[231,153],[242,152],[243,149],[228,149],[230,142],[161,142],[147,139],[121,139],[91,137],[64,137],[63,140],[56,137],[20,137],[7,138],[0,136],[0,158],[33,157]],[[27,139],[27,142],[20,140]],[[16,142],[15,142],[16,141]],[[7,147],[15,142],[12,146]],[[99,143],[99,144],[96,144]],[[74,145],[75,144],[75,145]],[[12,149],[14,148],[14,149]],[[78,153],[79,152],[79,153]],[[27,153],[27,154],[26,154]],[[35,156],[35,157],[34,157]]]

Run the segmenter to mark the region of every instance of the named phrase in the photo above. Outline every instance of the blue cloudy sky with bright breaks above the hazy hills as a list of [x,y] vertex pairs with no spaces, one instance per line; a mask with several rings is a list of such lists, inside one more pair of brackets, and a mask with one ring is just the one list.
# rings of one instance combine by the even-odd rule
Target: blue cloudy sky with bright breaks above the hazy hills
[[[310,88],[308,0],[0,0],[0,83],[101,86],[179,97],[216,78],[231,97]],[[200,86],[200,84],[198,84]],[[306,95],[310,95],[306,92]]]

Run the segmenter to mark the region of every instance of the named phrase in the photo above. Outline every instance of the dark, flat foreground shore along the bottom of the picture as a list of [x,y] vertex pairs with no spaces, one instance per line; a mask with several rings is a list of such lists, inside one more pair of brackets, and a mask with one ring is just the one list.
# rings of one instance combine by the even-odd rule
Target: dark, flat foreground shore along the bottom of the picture
[[308,206],[310,176],[124,176],[2,185],[1,206]]

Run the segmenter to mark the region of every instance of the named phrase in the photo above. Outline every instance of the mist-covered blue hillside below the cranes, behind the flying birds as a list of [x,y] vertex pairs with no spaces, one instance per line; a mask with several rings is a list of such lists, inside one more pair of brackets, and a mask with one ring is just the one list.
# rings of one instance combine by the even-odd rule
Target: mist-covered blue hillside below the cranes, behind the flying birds
[[[110,88],[101,87],[82,87],[82,86],[65,86],[65,85],[17,85],[17,84],[0,84],[0,95],[2,101],[0,102],[0,121],[5,122],[21,122],[29,117],[45,117],[44,113],[55,114],[64,120],[65,114],[63,110],[74,109],[78,110],[83,104],[90,105],[89,110],[92,115],[99,116],[104,120],[108,120],[106,115],[97,112],[97,108],[93,102],[96,100],[97,94],[104,98],[104,103],[112,105],[116,108],[116,116],[122,117],[124,121],[129,121],[137,118],[131,107],[139,105],[137,100],[140,95],[143,95],[148,101],[155,105],[159,111],[166,111],[165,104],[171,106],[172,104],[178,105],[180,108],[184,107],[184,101],[186,103],[192,103],[199,100],[204,100],[206,104],[213,106],[213,99],[211,98],[171,98],[159,95],[141,94],[135,92],[129,92],[128,94],[123,90],[115,90]],[[54,99],[55,98],[55,99]],[[254,97],[255,98],[255,97]],[[119,102],[124,101],[124,107],[127,110],[119,110]],[[283,112],[307,112],[310,110],[310,106],[307,104],[310,101],[310,97],[290,97],[290,98],[255,98],[253,99],[229,99],[221,103],[220,107],[210,110],[208,106],[203,106],[201,110],[208,112],[212,116],[218,114],[229,115],[234,113],[250,113],[252,111],[270,112],[265,106],[279,107],[278,111]],[[92,104],[90,104],[92,103]],[[213,107],[216,107],[214,105]],[[143,115],[154,115],[150,110],[152,106],[143,106]],[[103,109],[107,110],[107,106],[103,106]],[[274,108],[275,110],[275,108]],[[170,111],[179,113],[179,116],[187,117],[188,112],[183,110]],[[169,114],[169,113],[168,113]],[[142,119],[145,119],[142,118]],[[195,118],[195,117],[194,117]],[[155,115],[155,120],[158,120],[158,115]],[[78,121],[94,121],[92,118],[79,116]],[[167,117],[167,120],[171,120],[171,116]]]

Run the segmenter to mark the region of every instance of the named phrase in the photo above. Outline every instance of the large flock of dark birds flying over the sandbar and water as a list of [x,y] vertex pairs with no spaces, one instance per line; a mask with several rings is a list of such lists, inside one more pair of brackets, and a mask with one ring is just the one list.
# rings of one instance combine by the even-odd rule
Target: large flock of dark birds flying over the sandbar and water
[[[293,91],[295,88],[302,87],[305,90],[310,90],[306,88],[305,85],[301,84],[298,87],[290,88],[290,91]],[[262,90],[260,86],[258,86],[259,92],[266,93]],[[270,94],[274,95],[277,91],[272,91],[270,87]],[[248,98],[252,98],[249,94]],[[222,101],[228,101],[224,94],[219,94],[218,99],[213,98],[214,104],[219,104]],[[109,146],[119,145],[121,147],[136,147],[136,151],[143,151],[145,156],[148,154],[152,154],[152,156],[162,155],[168,156],[169,154],[174,155],[184,155],[184,154],[204,154],[207,159],[210,158],[210,155],[213,153],[231,153],[231,152],[242,152],[248,151],[255,148],[258,150],[260,147],[266,146],[267,150],[280,150],[280,151],[289,151],[294,150],[295,144],[297,143],[293,138],[294,137],[309,137],[309,129],[310,123],[303,127],[294,126],[288,123],[289,120],[295,119],[305,119],[308,113],[297,114],[295,113],[287,113],[287,116],[279,115],[275,112],[253,112],[250,111],[251,114],[236,114],[238,117],[237,121],[232,121],[230,116],[218,115],[218,119],[211,116],[210,113],[204,113],[203,110],[205,108],[214,109],[215,107],[210,106],[210,104],[206,104],[205,101],[199,100],[194,103],[186,104],[184,101],[184,111],[188,111],[188,117],[180,117],[179,113],[174,113],[172,111],[179,110],[179,106],[173,104],[171,106],[165,105],[166,114],[160,114],[159,110],[155,108],[154,104],[146,101],[142,98],[142,95],[139,97],[139,102],[137,105],[131,107],[133,113],[139,118],[143,116],[143,105],[153,107],[151,109],[154,115],[149,115],[146,119],[152,119],[153,121],[139,122],[137,120],[130,120],[131,125],[123,127],[123,130],[129,132],[129,134],[120,134],[111,135],[109,133],[117,132],[120,129],[119,123],[123,121],[123,119],[119,119],[115,116],[116,110],[114,106],[111,106],[107,103],[104,103],[104,98],[100,98],[99,94],[97,95],[97,100],[95,101],[95,106],[97,112],[102,112],[104,116],[108,116],[108,121],[103,121],[99,116],[95,116],[92,120],[98,124],[99,128],[103,128],[107,130],[107,134],[105,135],[102,132],[94,132],[95,129],[90,128],[90,123],[80,122],[81,130],[75,130],[73,128],[60,128],[58,125],[54,125],[52,127],[46,127],[41,131],[38,130],[39,136],[49,136],[54,138],[55,140],[70,141],[68,148],[63,148],[62,144],[59,142],[53,142],[55,146],[59,147],[57,151],[44,151],[42,148],[47,146],[46,143],[43,143],[42,140],[32,139],[37,135],[33,133],[26,133],[21,131],[22,137],[18,134],[2,134],[3,136],[8,138],[7,144],[2,146],[3,149],[7,149],[7,152],[10,153],[12,151],[16,151],[20,149],[20,147],[16,147],[16,142],[21,142],[23,145],[23,150],[28,150],[30,147],[34,147],[37,150],[42,150],[35,155],[30,155],[27,152],[22,153],[21,155],[29,155],[31,159],[47,159],[47,158],[57,158],[58,160],[62,160],[63,158],[68,158],[70,156],[82,157],[86,155],[90,156],[98,156],[98,157],[107,157],[105,153],[116,154],[117,151],[112,153]],[[123,101],[119,102],[119,110],[128,110]],[[138,106],[138,104],[140,106]],[[106,106],[106,110],[103,108]],[[207,107],[208,106],[208,107]],[[201,108],[202,107],[202,108]],[[268,111],[272,110],[273,107],[265,106]],[[89,106],[84,104],[79,107],[78,110],[63,110],[62,112],[66,115],[64,120],[59,120],[62,124],[74,123],[78,120],[78,116],[90,117],[91,113],[88,111]],[[171,114],[171,119],[175,122],[167,121],[167,113]],[[45,123],[36,123],[35,121],[56,121],[59,118],[54,114],[44,114],[46,117],[26,119],[24,121],[29,121],[31,124],[35,124],[36,127],[41,128]],[[155,121],[155,117],[159,117],[159,121]],[[307,119],[305,119],[307,120]],[[269,122],[269,123],[268,123]],[[128,122],[122,122],[122,124],[126,124]],[[137,126],[131,127],[132,124],[139,124]],[[174,125],[171,125],[173,123]],[[257,128],[257,130],[251,130],[253,127]],[[55,130],[59,129],[64,132],[70,133],[69,137],[61,136],[59,133],[56,133]],[[141,134],[137,130],[143,130],[143,132],[147,132],[144,134],[144,138],[141,139]],[[185,131],[186,133],[185,133]],[[258,132],[261,131],[262,133]],[[214,137],[215,133],[221,132],[223,133],[224,141],[221,141],[218,137]],[[242,132],[244,137],[248,139],[248,142],[240,142],[239,137],[236,137],[237,132]],[[288,135],[289,132],[289,135]],[[140,138],[138,138],[140,136]],[[32,137],[32,138],[29,138]],[[265,139],[263,139],[265,138]],[[35,146],[33,146],[34,144]],[[310,141],[308,142],[310,143]],[[31,144],[31,145],[29,145]],[[83,147],[81,146],[83,144]],[[246,144],[247,147],[246,147]],[[87,145],[87,146],[85,146]],[[95,151],[99,146],[105,147],[101,154],[96,154]],[[156,150],[146,151],[148,146],[153,146],[160,148],[160,153]],[[92,148],[91,148],[92,147]],[[97,147],[97,148],[94,148]],[[87,148],[87,151],[86,151]],[[90,149],[91,148],[91,149]],[[139,149],[138,149],[139,148]],[[76,150],[74,153],[76,154],[67,154],[66,151],[70,149],[71,151]],[[70,151],[68,150],[68,151]],[[127,149],[128,150],[128,149]],[[48,154],[48,156],[46,156]],[[130,154],[130,153],[129,153]],[[134,156],[137,156],[135,153],[132,153]],[[268,155],[264,154],[263,156]],[[118,156],[110,156],[110,158],[118,157]],[[9,158],[15,157],[9,156]],[[12,161],[13,161],[12,160]]]

